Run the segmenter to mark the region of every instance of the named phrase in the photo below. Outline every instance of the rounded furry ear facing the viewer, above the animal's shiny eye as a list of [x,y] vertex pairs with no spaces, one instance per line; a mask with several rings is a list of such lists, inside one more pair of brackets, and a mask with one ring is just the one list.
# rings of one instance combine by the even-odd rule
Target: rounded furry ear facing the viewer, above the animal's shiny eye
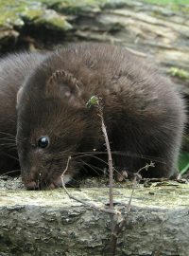
[[58,97],[71,105],[79,106],[82,104],[80,85],[73,74],[64,70],[57,70],[46,83],[46,97]]

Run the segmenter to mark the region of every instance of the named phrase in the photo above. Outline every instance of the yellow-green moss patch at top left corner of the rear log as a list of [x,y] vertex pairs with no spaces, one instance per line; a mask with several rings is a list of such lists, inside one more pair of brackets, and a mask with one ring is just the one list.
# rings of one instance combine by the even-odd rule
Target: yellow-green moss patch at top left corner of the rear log
[[[46,9],[46,4],[51,1],[1,1],[0,3],[0,26],[22,27],[26,21],[35,21],[37,25],[67,30],[72,26],[65,17],[55,10]],[[53,1],[52,1],[53,2]]]

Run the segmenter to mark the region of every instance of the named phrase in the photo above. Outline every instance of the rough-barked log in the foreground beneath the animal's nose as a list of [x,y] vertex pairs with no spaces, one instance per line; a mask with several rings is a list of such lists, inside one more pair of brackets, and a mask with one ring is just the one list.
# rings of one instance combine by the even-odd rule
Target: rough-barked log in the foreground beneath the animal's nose
[[[109,188],[68,189],[98,208],[107,208]],[[114,208],[124,215],[129,182],[113,189]],[[116,255],[188,255],[189,185],[156,182],[139,185],[131,202]],[[62,190],[0,191],[0,255],[112,255],[106,249],[111,216],[87,207]]]

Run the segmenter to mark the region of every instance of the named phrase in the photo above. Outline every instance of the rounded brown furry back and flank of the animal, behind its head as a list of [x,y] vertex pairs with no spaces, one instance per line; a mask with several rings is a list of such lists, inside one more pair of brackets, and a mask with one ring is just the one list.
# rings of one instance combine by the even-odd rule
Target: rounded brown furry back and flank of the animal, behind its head
[[159,162],[146,175],[173,174],[185,121],[184,103],[174,84],[121,47],[83,44],[61,54],[62,68],[81,80],[84,101],[92,95],[104,101],[112,150],[136,155],[115,157],[115,164],[124,168],[128,162],[134,172],[147,161],[137,155],[148,155]]

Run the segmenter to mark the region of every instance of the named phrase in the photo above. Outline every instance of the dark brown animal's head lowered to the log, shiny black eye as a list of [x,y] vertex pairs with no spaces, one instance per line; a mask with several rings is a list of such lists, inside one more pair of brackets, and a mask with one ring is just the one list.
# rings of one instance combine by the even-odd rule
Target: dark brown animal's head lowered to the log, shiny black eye
[[[27,189],[60,187],[68,157],[86,130],[86,107],[77,79],[64,70],[38,68],[17,95],[17,148]],[[71,161],[67,183],[77,172]]]

